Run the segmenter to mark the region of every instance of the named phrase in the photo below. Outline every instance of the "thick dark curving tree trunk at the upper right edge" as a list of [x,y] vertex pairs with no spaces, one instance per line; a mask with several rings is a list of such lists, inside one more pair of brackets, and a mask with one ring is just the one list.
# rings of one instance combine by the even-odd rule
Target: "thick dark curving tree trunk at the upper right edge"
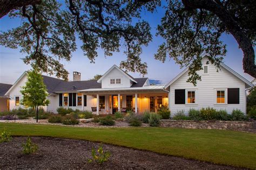
[[227,30],[233,35],[239,47],[244,53],[242,60],[244,72],[256,77],[255,53],[252,41],[248,38],[246,33],[242,32],[239,24],[234,20],[234,17],[224,9],[221,4],[217,4],[212,0],[182,0],[184,6],[188,10],[205,9],[218,16],[225,24]]

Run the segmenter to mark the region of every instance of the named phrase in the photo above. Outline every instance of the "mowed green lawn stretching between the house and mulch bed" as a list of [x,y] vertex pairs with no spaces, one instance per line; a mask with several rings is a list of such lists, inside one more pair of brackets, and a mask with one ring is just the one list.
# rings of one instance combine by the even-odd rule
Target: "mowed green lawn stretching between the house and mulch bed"
[[14,136],[47,136],[101,141],[161,154],[256,168],[256,134],[172,128],[73,128],[0,123]]

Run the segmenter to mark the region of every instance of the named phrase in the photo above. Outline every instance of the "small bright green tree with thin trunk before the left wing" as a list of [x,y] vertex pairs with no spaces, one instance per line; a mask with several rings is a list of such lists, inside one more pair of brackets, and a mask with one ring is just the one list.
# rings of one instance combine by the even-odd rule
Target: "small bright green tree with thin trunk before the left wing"
[[38,107],[48,105],[50,101],[46,99],[48,96],[47,89],[42,75],[37,70],[28,72],[28,80],[22,87],[21,94],[23,95],[23,105],[36,108],[36,122],[38,122]]

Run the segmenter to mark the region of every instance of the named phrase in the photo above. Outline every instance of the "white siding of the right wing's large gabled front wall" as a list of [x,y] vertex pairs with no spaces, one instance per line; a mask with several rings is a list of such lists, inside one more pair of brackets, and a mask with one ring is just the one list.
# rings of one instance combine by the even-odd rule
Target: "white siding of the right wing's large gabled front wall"
[[[206,65],[207,58],[203,58],[203,68],[208,66],[208,73],[204,74],[204,70],[198,72],[201,75],[201,81],[197,82],[197,86],[186,82],[188,79],[188,71],[179,77],[170,85],[171,93],[171,112],[176,114],[179,110],[184,110],[187,114],[191,108],[201,109],[211,107],[217,110],[226,110],[229,114],[233,109],[239,109],[246,112],[245,107],[245,82],[238,79],[237,76],[228,72],[225,68],[217,72],[214,65],[209,63]],[[216,89],[239,88],[239,104],[216,104]],[[197,104],[175,104],[175,89],[197,90],[196,103]],[[226,93],[227,94],[227,93]],[[225,96],[227,98],[227,96]],[[185,98],[187,100],[187,98]]]

